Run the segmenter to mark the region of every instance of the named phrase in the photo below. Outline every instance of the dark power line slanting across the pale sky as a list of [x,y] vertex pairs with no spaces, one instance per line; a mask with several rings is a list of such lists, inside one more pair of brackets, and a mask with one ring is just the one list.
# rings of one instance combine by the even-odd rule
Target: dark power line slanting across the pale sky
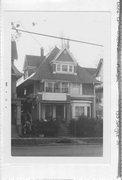
[[78,43],[84,43],[84,44],[104,47],[101,44],[90,43],[90,42],[85,42],[85,41],[79,41],[79,40],[75,40],[75,39],[64,38],[64,37],[59,37],[59,36],[54,36],[54,35],[49,35],[49,34],[36,33],[36,32],[26,31],[26,30],[22,30],[22,29],[16,29],[15,27],[12,27],[12,29],[16,30],[16,31],[24,32],[24,33],[39,35],[39,36],[45,36],[45,37],[50,37],[50,38],[55,38],[55,39],[69,40],[69,41],[72,41],[72,42],[78,42]]

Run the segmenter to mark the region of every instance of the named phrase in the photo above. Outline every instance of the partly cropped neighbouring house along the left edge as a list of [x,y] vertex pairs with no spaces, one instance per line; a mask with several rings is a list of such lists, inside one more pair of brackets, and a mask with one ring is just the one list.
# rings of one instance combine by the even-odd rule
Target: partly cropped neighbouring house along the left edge
[[11,110],[12,110],[12,136],[16,131],[21,132],[21,99],[17,97],[16,81],[22,76],[22,73],[14,65],[14,60],[17,59],[16,42],[11,41]]

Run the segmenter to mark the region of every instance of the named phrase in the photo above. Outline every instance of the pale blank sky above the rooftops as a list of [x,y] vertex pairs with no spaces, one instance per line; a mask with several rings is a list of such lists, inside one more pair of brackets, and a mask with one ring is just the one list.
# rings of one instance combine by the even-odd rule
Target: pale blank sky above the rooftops
[[[105,12],[11,13],[11,22],[20,24],[20,29],[103,45],[100,47],[70,41],[70,51],[79,65],[91,68],[96,68],[100,58],[104,58],[110,34],[109,19],[109,13]],[[60,39],[21,33],[17,39],[18,60],[15,65],[22,72],[26,54],[38,56],[43,47],[46,55],[55,46],[61,48]]]

